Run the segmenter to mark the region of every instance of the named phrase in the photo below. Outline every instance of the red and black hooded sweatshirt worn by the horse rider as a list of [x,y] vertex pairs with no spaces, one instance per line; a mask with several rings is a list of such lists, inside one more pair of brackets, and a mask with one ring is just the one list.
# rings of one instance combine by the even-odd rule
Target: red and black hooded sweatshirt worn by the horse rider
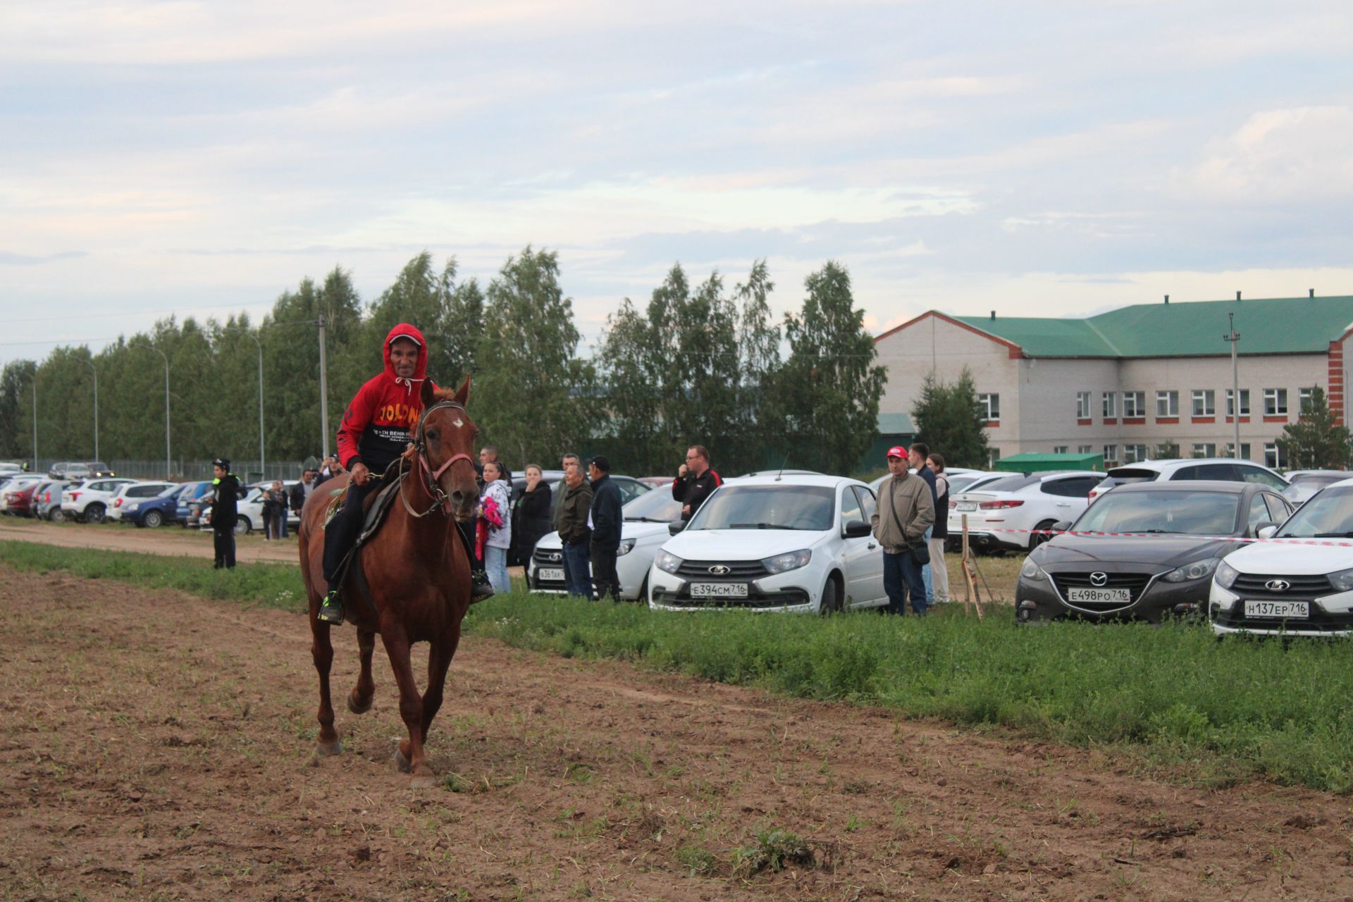
[[[390,343],[410,338],[418,345],[413,379],[395,376]],[[359,461],[373,473],[383,473],[409,446],[410,430],[422,415],[422,384],[428,373],[428,342],[409,323],[399,323],[386,335],[386,372],[357,389],[338,427],[338,462],[352,469]],[[436,387],[436,385],[434,385]]]

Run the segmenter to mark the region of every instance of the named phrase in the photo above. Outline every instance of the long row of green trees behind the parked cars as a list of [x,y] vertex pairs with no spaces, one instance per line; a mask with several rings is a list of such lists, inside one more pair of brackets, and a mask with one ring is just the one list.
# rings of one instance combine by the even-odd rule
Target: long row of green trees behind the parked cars
[[164,361],[156,349],[169,362],[173,456],[253,460],[258,345],[268,460],[318,454],[323,316],[330,431],[379,372],[386,333],[409,322],[428,337],[429,377],[455,387],[472,376],[480,441],[514,467],[548,468],[575,450],[606,453],[621,472],[668,473],[690,444],[702,444],[728,473],[781,465],[850,473],[875,435],[885,381],[850,275],[824,264],[805,280],[801,308],[782,319],[771,314],[773,289],[764,261],[732,285],[718,272],[693,283],[676,264],[645,302],[624,299],[584,354],[556,252],[528,246],[487,284],[461,279],[455,258],[438,268],[423,252],[371,302],[334,268],[283,292],[257,323],[244,314],[225,322],[170,316],[96,354],[60,346],[41,361],[7,364],[0,457],[32,456],[34,380],[38,450],[89,457],[91,366],[100,454],[162,456]]

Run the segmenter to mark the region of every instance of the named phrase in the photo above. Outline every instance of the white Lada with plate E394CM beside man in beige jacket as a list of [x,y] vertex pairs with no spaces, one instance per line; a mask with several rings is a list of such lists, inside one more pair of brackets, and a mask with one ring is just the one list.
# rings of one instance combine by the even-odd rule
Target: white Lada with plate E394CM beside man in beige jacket
[[648,606],[820,613],[888,604],[874,494],[843,476],[729,480],[648,571]]

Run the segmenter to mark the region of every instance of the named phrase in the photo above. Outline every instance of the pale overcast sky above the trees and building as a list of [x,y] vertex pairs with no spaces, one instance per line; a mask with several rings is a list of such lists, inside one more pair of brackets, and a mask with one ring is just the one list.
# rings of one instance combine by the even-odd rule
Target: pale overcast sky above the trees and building
[[1346,0],[8,3],[0,361],[526,243],[587,343],[675,261],[783,311],[839,260],[875,331],[1353,293],[1350,49]]

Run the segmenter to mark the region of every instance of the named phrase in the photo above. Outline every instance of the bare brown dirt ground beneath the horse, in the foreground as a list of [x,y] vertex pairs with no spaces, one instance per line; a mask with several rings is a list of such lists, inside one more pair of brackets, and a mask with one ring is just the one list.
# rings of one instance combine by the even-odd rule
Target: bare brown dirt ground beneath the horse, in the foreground
[[[0,568],[14,899],[1346,899],[1350,803],[467,640],[411,791],[303,617]],[[356,636],[338,633],[340,692]],[[419,671],[421,672],[421,671]],[[805,842],[756,833],[792,832]],[[783,870],[758,848],[794,853]]]

